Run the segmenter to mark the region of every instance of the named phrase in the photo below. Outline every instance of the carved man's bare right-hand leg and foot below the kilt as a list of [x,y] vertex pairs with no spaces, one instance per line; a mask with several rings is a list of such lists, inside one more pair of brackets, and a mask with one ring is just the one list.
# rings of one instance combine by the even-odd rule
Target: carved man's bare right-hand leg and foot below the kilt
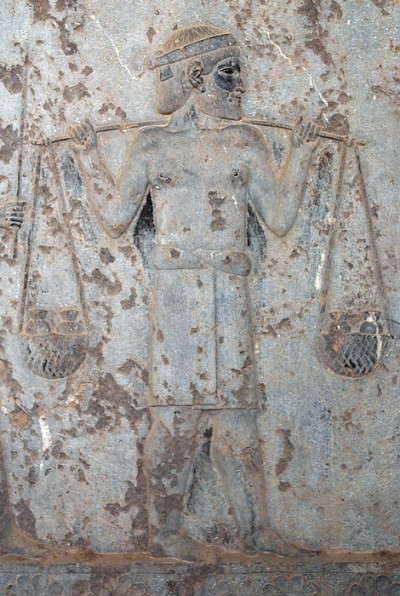
[[294,555],[267,518],[266,487],[255,410],[215,412],[211,461],[234,512],[243,550]]

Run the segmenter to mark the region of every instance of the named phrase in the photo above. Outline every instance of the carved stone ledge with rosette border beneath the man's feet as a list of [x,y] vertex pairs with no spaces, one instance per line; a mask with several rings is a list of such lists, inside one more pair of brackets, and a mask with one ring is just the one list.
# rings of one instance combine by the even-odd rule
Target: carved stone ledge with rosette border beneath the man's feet
[[270,569],[262,565],[245,566],[159,566],[154,572],[146,565],[106,565],[101,568],[64,565],[45,571],[32,565],[23,570],[10,565],[0,574],[2,593],[29,596],[101,594],[101,596],[205,596],[215,594],[254,594],[254,596],[397,596],[400,593],[398,567],[385,571],[379,564],[348,566],[314,565],[304,573],[303,567]]

